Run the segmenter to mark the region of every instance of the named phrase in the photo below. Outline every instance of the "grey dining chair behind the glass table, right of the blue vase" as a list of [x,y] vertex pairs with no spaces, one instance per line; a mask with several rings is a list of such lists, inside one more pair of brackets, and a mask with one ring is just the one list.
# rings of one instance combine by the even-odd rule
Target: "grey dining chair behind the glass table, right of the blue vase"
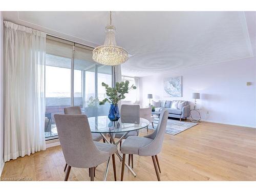
[[[122,104],[121,105],[121,121],[127,123],[132,123],[135,121],[139,122],[140,118],[140,105],[138,104]],[[127,139],[130,136],[138,136],[140,134],[140,130],[129,132],[123,139]],[[115,138],[121,138],[123,133],[116,133]],[[120,141],[120,150],[121,150],[122,141]],[[129,156],[129,164],[132,159],[132,168],[133,168],[133,155]]]

